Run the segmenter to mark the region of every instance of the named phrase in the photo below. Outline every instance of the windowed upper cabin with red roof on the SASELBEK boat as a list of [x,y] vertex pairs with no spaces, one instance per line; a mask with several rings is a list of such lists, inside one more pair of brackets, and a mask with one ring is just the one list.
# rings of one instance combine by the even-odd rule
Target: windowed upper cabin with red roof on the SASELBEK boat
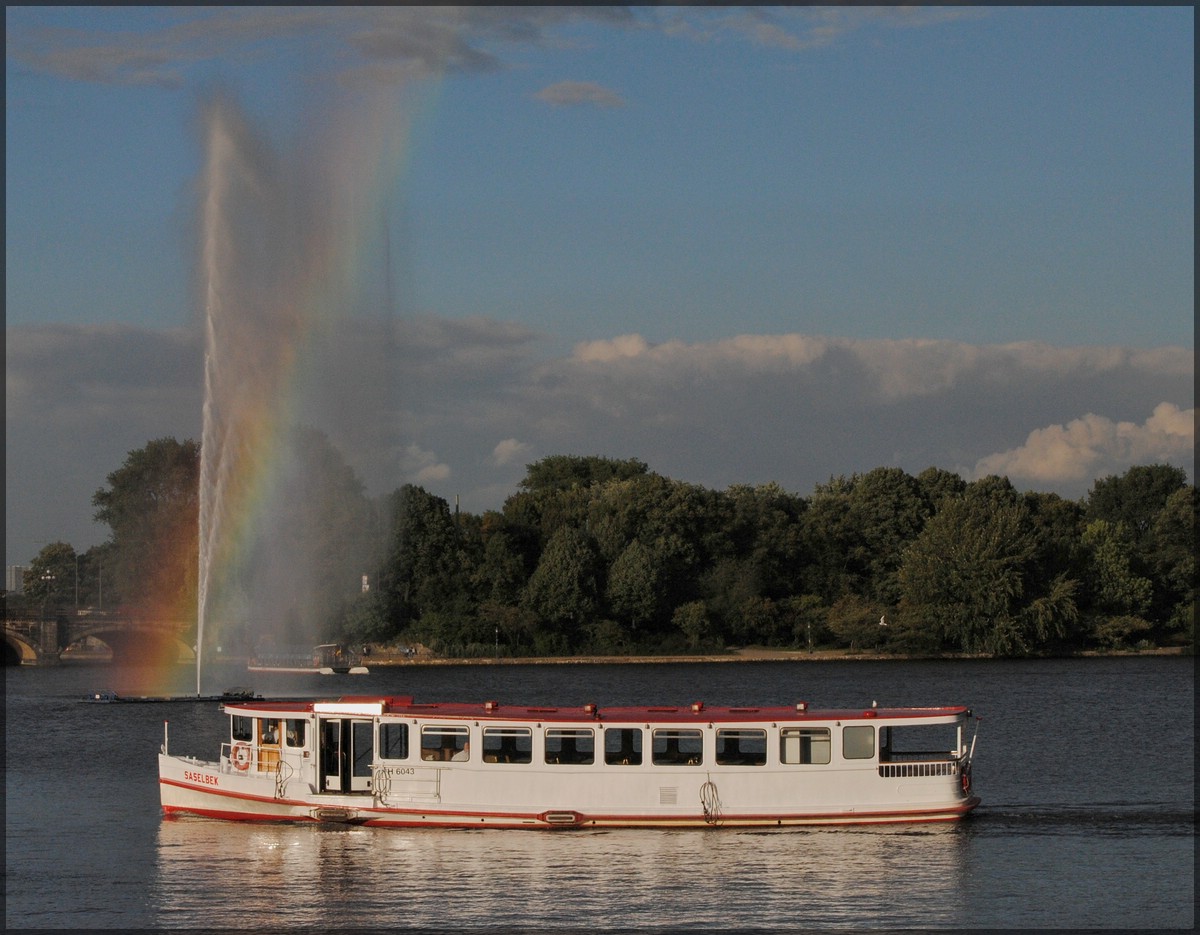
[[[755,771],[870,766],[884,778],[954,775],[965,708],[414,705],[410,697],[227,705],[222,757],[236,771],[287,771],[314,792],[373,793],[416,767],[589,774],[630,769]],[[451,766],[452,765],[452,766]],[[316,767],[316,768],[314,768]]]

